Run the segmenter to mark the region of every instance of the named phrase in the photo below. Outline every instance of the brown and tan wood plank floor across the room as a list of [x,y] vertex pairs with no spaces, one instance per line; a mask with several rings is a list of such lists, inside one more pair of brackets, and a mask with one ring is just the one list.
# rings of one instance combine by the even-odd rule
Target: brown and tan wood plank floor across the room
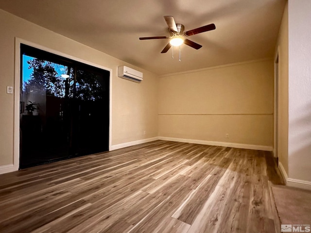
[[2,233],[275,233],[270,152],[155,141],[0,175]]

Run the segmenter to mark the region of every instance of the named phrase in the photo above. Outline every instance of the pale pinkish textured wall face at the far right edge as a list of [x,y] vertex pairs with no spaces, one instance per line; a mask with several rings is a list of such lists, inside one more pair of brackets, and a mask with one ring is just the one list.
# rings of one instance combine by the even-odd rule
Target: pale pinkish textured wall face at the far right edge
[[311,1],[288,2],[288,181],[311,189]]

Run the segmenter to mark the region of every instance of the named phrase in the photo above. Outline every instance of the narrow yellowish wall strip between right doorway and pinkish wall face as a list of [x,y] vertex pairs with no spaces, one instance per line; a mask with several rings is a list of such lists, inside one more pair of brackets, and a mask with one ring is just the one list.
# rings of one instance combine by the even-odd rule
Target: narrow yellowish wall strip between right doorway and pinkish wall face
[[288,174],[288,4],[285,6],[278,41],[278,158]]

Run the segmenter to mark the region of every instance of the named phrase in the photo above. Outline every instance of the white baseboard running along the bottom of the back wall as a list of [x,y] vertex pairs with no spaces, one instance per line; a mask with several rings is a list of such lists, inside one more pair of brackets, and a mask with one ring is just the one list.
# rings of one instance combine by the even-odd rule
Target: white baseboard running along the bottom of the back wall
[[193,140],[193,139],[174,138],[174,137],[158,137],[158,139],[164,140],[164,141],[186,142],[186,143],[194,143],[194,144],[209,145],[209,146],[273,151],[273,147],[259,146],[259,145],[239,144],[239,143],[230,143],[230,142],[203,141],[203,140]]

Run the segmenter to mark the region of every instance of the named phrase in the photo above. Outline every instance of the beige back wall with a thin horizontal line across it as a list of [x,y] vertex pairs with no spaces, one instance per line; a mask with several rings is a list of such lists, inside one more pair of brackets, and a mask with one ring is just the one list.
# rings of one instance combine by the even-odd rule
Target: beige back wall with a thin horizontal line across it
[[159,136],[273,147],[273,74],[265,60],[161,77]]

